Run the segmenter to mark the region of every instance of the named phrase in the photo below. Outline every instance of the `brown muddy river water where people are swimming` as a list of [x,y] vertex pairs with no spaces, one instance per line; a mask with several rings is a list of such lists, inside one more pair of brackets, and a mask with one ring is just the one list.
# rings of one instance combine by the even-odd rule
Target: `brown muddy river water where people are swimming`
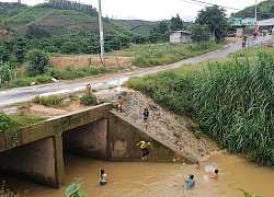
[[[99,186],[100,170],[104,167],[110,177],[106,186]],[[219,170],[219,178],[206,178],[212,169]],[[209,171],[209,172],[208,172]],[[195,175],[194,188],[182,189],[182,176]],[[179,163],[105,162],[89,158],[65,155],[66,186],[54,189],[14,177],[1,175],[7,187],[13,192],[27,190],[27,196],[64,197],[66,187],[76,178],[82,178],[88,197],[243,197],[241,186],[252,195],[274,196],[274,170],[248,163],[238,155],[217,151],[195,165]]]

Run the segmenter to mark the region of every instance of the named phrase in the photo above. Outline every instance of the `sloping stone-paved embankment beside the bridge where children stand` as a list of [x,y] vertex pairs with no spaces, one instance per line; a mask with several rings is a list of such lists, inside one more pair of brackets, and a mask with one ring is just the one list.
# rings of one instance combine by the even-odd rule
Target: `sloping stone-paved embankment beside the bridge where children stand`
[[[109,96],[107,100],[112,103],[117,102],[117,96]],[[148,97],[139,92],[129,91],[126,96],[123,96],[125,102],[124,115],[129,117],[134,123],[144,126],[142,112],[148,106]],[[217,149],[217,144],[206,137],[201,139],[195,138],[194,134],[186,129],[186,119],[178,117],[170,112],[164,111],[161,106],[159,112],[150,112],[149,131],[158,136],[162,140],[169,142],[170,147],[183,151],[184,153],[194,157],[196,160],[202,160],[204,155],[209,154]]]

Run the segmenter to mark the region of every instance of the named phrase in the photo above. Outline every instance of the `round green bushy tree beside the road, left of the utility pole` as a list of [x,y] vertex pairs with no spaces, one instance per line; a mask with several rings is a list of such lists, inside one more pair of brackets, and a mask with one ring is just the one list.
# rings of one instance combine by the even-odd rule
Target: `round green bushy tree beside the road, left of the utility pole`
[[44,50],[32,49],[26,53],[26,72],[34,77],[46,72],[50,67],[49,57]]

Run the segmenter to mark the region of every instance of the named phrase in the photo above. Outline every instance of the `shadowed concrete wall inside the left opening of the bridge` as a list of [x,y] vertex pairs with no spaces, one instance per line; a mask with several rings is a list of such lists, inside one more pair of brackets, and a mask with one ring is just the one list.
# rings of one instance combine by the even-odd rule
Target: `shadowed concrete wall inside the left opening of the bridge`
[[[59,187],[54,137],[47,137],[0,153],[4,173]],[[60,175],[59,175],[60,176]]]

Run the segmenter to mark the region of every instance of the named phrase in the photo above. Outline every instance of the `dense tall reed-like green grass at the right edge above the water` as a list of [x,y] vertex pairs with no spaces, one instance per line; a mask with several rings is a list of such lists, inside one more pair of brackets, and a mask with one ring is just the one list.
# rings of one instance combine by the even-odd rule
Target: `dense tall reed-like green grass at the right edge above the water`
[[213,63],[196,78],[195,115],[207,134],[231,153],[274,166],[274,60]]

